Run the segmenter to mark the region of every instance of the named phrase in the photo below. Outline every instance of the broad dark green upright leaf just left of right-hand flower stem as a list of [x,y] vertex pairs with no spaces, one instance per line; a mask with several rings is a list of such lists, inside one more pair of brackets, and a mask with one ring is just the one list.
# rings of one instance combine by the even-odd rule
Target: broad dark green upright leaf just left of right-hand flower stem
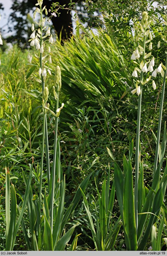
[[123,188],[123,220],[125,232],[129,241],[128,250],[137,250],[137,234],[134,215],[133,175],[130,159]]

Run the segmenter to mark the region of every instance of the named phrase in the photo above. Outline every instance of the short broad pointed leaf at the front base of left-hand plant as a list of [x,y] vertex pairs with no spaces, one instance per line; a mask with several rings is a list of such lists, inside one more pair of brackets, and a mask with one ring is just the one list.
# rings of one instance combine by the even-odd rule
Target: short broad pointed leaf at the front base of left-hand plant
[[53,251],[52,231],[45,214],[44,214],[44,250]]

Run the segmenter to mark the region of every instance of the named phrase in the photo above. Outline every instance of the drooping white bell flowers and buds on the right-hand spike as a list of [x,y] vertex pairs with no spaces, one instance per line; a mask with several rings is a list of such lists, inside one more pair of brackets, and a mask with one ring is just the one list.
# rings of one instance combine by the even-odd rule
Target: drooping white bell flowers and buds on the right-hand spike
[[[150,21],[148,21],[148,14],[147,14],[147,12],[143,12],[142,13],[142,21],[141,21],[141,24],[140,24],[141,32],[137,35],[136,42],[139,41],[140,37],[142,38],[142,37],[145,36],[145,38],[146,38],[147,36],[149,36],[149,39],[147,41],[145,41],[145,44],[149,43],[148,49],[149,49],[149,51],[151,51],[152,50],[152,42],[151,42],[152,34],[150,32],[150,29],[149,29],[149,24],[150,24]],[[157,45],[157,48],[159,48],[159,47],[160,47],[160,41],[158,42],[158,45]],[[134,68],[133,73],[132,73],[133,77],[138,77],[137,71],[139,73],[141,73],[141,72],[142,73],[152,72],[152,74],[149,76],[149,78],[147,78],[144,82],[138,81],[136,83],[136,88],[131,91],[133,94],[137,93],[138,96],[140,95],[140,92],[141,92],[141,88],[140,88],[140,86],[138,86],[138,84],[141,83],[142,86],[145,85],[147,82],[150,81],[151,76],[156,77],[157,73],[161,73],[161,75],[163,76],[164,75],[163,69],[165,69],[165,66],[161,63],[158,66],[158,68],[155,68],[155,70],[153,70],[154,57],[152,56],[151,61],[148,61],[148,62],[144,63],[144,61],[151,56],[151,52],[145,53],[145,54],[143,52],[144,52],[144,48],[139,44],[139,46],[136,48],[135,51],[133,51],[133,54],[131,56],[131,60],[133,60],[134,63],[136,63],[135,60],[139,60],[140,55],[142,55],[142,61],[140,63],[140,69],[138,67]],[[148,63],[149,63],[149,65],[148,65],[148,68],[147,68]],[[154,80],[152,80],[152,87],[153,87],[154,90],[156,89],[156,84],[155,84]]]

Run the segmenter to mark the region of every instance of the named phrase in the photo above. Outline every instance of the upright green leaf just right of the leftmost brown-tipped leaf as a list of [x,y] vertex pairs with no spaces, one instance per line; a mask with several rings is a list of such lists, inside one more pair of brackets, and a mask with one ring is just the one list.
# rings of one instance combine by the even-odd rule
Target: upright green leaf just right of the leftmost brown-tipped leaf
[[15,242],[15,226],[16,226],[16,215],[17,215],[17,202],[15,187],[11,184],[11,216],[9,232],[6,240],[6,251],[11,251],[13,249],[12,245]]

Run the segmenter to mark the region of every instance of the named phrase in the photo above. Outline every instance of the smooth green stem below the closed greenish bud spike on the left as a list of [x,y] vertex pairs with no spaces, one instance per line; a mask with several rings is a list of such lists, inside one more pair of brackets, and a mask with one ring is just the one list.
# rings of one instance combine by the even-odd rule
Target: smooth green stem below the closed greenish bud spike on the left
[[[59,106],[59,92],[57,91],[56,109],[58,109],[58,106]],[[53,231],[53,219],[54,219],[53,208],[54,208],[55,168],[56,168],[56,154],[57,154],[57,129],[58,129],[58,117],[55,118],[55,130],[54,130],[54,156],[53,156],[53,168],[52,168],[51,210],[50,210],[51,231]]]

